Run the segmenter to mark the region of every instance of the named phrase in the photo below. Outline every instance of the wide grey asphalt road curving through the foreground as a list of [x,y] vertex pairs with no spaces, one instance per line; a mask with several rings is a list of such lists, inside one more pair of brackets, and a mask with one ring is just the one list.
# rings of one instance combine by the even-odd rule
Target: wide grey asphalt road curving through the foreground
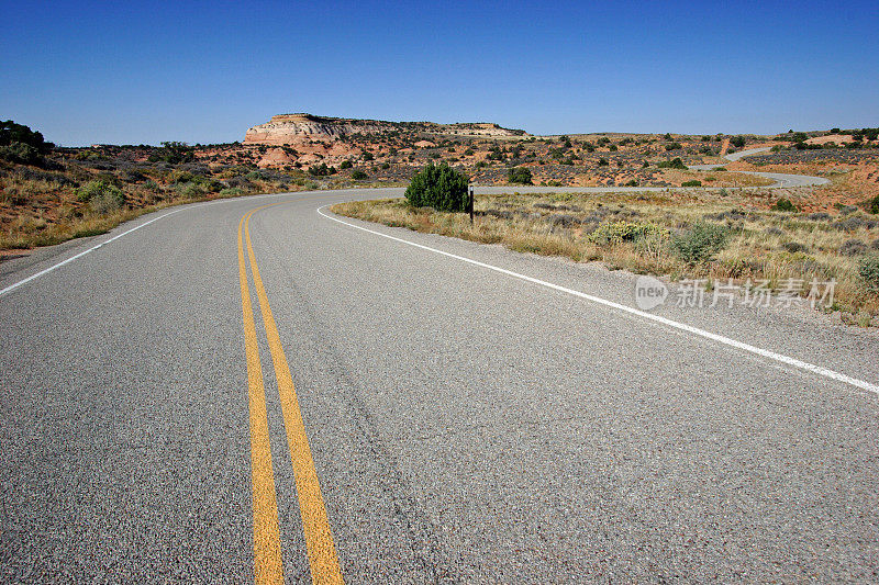
[[0,265],[121,235],[0,293],[0,580],[879,580],[875,330],[319,213],[396,193]]

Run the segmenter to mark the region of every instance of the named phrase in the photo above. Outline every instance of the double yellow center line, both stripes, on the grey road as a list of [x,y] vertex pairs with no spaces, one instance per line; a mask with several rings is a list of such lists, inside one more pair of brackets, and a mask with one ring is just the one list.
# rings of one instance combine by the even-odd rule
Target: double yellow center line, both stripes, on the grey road
[[326,508],[318,483],[318,472],[311,457],[311,448],[302,423],[302,413],[290,375],[290,365],[281,347],[278,327],[271,315],[271,307],[259,277],[259,267],[251,244],[251,216],[266,207],[279,205],[271,203],[252,210],[238,222],[238,280],[241,282],[241,301],[244,313],[244,347],[247,358],[247,384],[251,405],[251,472],[253,482],[254,505],[254,571],[256,583],[283,583],[283,564],[281,561],[280,533],[278,530],[278,502],[275,493],[275,475],[271,470],[271,450],[269,448],[268,415],[266,412],[266,392],[263,383],[263,367],[259,361],[256,326],[254,323],[251,290],[247,282],[247,269],[244,261],[244,244],[247,244],[247,257],[254,279],[254,289],[259,300],[266,338],[275,365],[275,378],[278,382],[283,426],[287,431],[287,443],[296,477],[296,491],[299,498],[299,510],[302,516],[302,528],[305,533],[305,548],[309,555],[312,583],[343,583],[338,555],[330,532]]

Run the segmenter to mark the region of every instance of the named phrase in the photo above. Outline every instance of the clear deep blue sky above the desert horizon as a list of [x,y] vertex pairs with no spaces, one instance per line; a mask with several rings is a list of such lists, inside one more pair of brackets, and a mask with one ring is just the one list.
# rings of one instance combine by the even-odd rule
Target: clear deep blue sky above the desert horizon
[[535,134],[879,126],[879,3],[8,2],[0,119],[63,145],[272,114]]

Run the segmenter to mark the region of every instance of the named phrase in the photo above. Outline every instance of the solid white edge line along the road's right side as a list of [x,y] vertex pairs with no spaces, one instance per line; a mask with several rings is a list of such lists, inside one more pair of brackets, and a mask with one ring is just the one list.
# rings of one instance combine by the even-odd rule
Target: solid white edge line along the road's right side
[[535,279],[533,277],[526,277],[525,274],[520,274],[519,272],[513,272],[511,270],[505,270],[503,268],[498,268],[497,266],[487,265],[487,263],[480,262],[478,260],[471,260],[470,258],[465,258],[463,256],[457,256],[455,254],[450,254],[450,252],[447,252],[447,251],[437,250],[436,248],[431,248],[430,246],[424,246],[422,244],[415,244],[414,241],[409,241],[409,240],[403,239],[403,238],[389,236],[388,234],[382,234],[381,232],[376,232],[374,229],[369,229],[369,228],[366,228],[366,227],[361,227],[359,225],[355,225],[355,224],[352,224],[352,223],[348,223],[348,222],[344,222],[342,220],[338,220],[337,217],[332,217],[332,216],[326,215],[325,213],[323,213],[323,210],[325,207],[327,207],[327,206],[329,205],[324,205],[324,206],[318,209],[318,213],[323,215],[327,220],[332,220],[332,221],[337,222],[340,224],[344,224],[344,225],[347,225],[349,227],[354,227],[355,229],[361,229],[364,232],[368,232],[368,233],[375,234],[377,236],[381,236],[381,237],[385,237],[385,238],[388,238],[388,239],[392,239],[394,241],[400,241],[402,244],[408,244],[410,246],[414,246],[416,248],[429,250],[429,251],[432,251],[432,252],[435,252],[435,254],[439,254],[439,255],[443,255],[443,256],[447,256],[449,258],[455,258],[456,260],[460,260],[463,262],[475,265],[475,266],[478,266],[480,268],[486,268],[488,270],[493,270],[496,272],[500,272],[501,274],[507,274],[508,277],[513,277],[513,278],[516,278],[516,279],[520,279],[520,280],[532,282],[534,284],[539,284],[541,286],[546,286],[547,289],[553,289],[555,291],[560,291],[560,292],[564,292],[564,293],[567,293],[567,294],[571,294],[574,296],[579,296],[580,299],[586,299],[587,301],[591,301],[592,303],[597,303],[597,304],[604,305],[604,306],[608,306],[608,307],[611,307],[611,308],[615,308],[617,311],[623,311],[625,313],[630,313],[632,315],[635,315],[635,316],[638,316],[638,317],[642,317],[642,318],[645,318],[645,319],[649,319],[649,320],[653,320],[653,322],[656,322],[656,323],[661,323],[663,325],[666,325],[668,327],[674,327],[674,328],[680,329],[682,331],[687,331],[687,333],[690,333],[690,334],[693,334],[693,335],[698,335],[700,337],[704,337],[706,339],[711,339],[712,341],[716,341],[719,344],[723,344],[723,345],[726,345],[726,346],[730,346],[730,347],[734,347],[736,349],[741,349],[741,350],[744,350],[744,351],[749,351],[750,353],[756,353],[757,356],[760,356],[760,357],[764,357],[764,358],[768,358],[770,360],[775,360],[775,361],[785,363],[787,365],[792,365],[793,368],[798,368],[800,370],[805,370],[805,371],[812,372],[814,374],[822,375],[824,378],[830,378],[831,380],[836,380],[837,382],[843,382],[845,384],[850,384],[850,385],[853,385],[855,387],[859,387],[861,390],[866,390],[868,392],[872,392],[875,394],[879,394],[879,385],[877,385],[877,384],[871,384],[871,383],[866,382],[864,380],[858,380],[857,378],[852,378],[849,375],[846,375],[846,374],[843,374],[843,373],[839,373],[839,372],[835,372],[835,371],[830,370],[827,368],[822,368],[821,365],[815,365],[813,363],[809,363],[809,362],[805,362],[805,361],[798,360],[797,358],[791,358],[789,356],[783,356],[781,353],[776,353],[775,351],[769,351],[767,349],[758,348],[756,346],[752,346],[752,345],[745,344],[743,341],[736,341],[735,339],[731,339],[731,338],[724,337],[722,335],[713,334],[711,331],[706,331],[704,329],[700,329],[700,328],[693,327],[691,325],[686,325],[683,323],[678,323],[676,320],[671,320],[671,319],[666,318],[666,317],[660,317],[659,315],[653,315],[653,314],[647,313],[645,311],[641,311],[641,310],[637,310],[637,308],[634,308],[634,307],[631,307],[631,306],[622,305],[620,303],[614,303],[613,301],[608,301],[607,299],[601,299],[600,296],[593,296],[591,294],[582,293],[580,291],[575,291],[572,289],[567,289],[565,286],[559,286],[558,284],[553,284],[552,282],[546,282],[545,280]]

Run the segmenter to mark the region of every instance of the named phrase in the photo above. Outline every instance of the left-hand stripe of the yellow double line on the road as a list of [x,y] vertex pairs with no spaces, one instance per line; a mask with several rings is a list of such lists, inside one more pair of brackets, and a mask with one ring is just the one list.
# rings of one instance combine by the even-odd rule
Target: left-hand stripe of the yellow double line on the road
[[[245,217],[249,216],[251,214],[247,214]],[[245,217],[242,217],[238,223],[238,280],[244,314],[244,347],[247,356],[247,396],[251,404],[254,575],[257,584],[283,583],[281,543],[278,532],[278,502],[275,496],[275,475],[271,471],[271,449],[268,440],[266,391],[263,385],[263,367],[259,362],[251,291],[247,286],[247,271],[244,266],[242,226]]]

